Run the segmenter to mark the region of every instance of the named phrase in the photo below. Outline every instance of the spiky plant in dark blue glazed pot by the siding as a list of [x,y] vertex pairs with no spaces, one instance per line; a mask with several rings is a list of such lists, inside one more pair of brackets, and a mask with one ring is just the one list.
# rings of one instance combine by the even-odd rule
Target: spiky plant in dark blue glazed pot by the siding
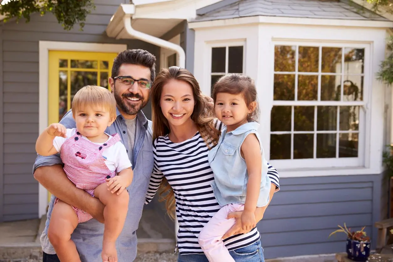
[[347,254],[348,258],[353,261],[365,262],[370,256],[370,238],[365,233],[365,227],[362,227],[359,231],[351,231],[351,228],[347,228],[344,223],[344,227],[338,225],[340,229],[332,232],[330,236],[343,232],[347,235]]

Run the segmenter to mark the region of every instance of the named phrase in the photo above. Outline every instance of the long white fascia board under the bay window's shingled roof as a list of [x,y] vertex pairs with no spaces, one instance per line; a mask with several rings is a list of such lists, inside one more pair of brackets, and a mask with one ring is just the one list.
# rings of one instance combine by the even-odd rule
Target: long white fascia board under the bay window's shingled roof
[[190,29],[219,26],[236,26],[244,24],[298,24],[313,26],[346,26],[346,27],[374,27],[391,28],[393,22],[390,21],[370,21],[370,20],[343,20],[343,19],[321,19],[321,18],[301,18],[285,16],[248,16],[240,18],[230,18],[222,20],[211,20],[202,22],[189,22]]

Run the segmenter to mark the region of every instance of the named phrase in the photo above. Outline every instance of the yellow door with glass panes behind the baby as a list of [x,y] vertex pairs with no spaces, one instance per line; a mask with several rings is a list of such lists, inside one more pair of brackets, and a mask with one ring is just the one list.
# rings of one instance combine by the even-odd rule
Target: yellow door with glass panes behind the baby
[[[117,53],[49,51],[48,125],[71,109],[75,93],[86,85],[109,88]],[[50,193],[48,193],[48,201]]]

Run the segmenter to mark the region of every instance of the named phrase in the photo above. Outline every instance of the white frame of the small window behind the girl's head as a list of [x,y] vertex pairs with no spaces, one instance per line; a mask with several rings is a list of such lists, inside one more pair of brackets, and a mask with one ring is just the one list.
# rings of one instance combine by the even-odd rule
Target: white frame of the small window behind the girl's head
[[[206,52],[206,57],[207,59],[207,75],[209,75],[209,79],[207,79],[207,83],[209,86],[209,91],[206,88],[206,91],[204,93],[211,95],[211,76],[213,75],[226,75],[228,74],[228,60],[229,60],[229,48],[231,46],[243,46],[243,71],[242,73],[246,72],[246,41],[244,40],[226,40],[226,41],[217,41],[217,42],[207,42],[207,52]],[[212,72],[211,71],[211,53],[213,48],[220,48],[220,47],[225,47],[225,72]]]

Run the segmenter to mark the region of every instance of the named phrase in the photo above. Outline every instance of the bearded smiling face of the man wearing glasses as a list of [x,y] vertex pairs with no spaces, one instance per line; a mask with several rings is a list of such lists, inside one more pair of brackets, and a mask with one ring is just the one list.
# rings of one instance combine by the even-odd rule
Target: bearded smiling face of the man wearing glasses
[[[148,67],[136,64],[122,64],[119,68],[118,76],[130,76],[135,80],[152,80],[150,75],[151,72]],[[140,87],[136,81],[131,85],[121,82],[120,79],[114,81],[110,78],[109,84],[113,90],[118,109],[126,119],[133,119],[149,102],[150,90]]]

